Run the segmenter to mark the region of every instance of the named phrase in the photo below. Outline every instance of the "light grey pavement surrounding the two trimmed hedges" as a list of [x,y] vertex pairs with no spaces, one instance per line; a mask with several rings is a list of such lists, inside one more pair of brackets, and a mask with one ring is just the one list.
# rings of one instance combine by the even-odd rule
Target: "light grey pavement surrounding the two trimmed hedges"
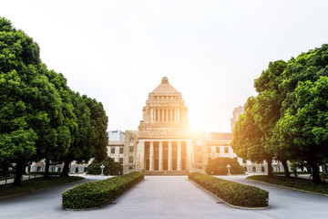
[[[98,177],[87,177],[95,180]],[[115,204],[89,211],[65,211],[61,193],[72,184],[0,201],[0,218],[326,218],[328,197],[301,193],[245,180],[245,176],[223,177],[257,185],[270,192],[270,209],[232,208],[205,193],[187,176],[146,176],[120,196]]]

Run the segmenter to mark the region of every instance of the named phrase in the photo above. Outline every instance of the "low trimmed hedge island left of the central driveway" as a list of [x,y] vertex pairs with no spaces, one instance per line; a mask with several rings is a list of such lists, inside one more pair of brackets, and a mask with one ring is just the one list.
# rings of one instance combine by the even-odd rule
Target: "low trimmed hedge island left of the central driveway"
[[142,172],[130,172],[103,181],[83,183],[62,193],[63,208],[102,207],[144,179]]

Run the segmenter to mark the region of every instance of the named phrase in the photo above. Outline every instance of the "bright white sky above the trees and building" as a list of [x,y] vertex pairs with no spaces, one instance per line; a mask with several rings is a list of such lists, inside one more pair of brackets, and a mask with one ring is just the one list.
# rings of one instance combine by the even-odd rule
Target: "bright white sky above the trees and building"
[[328,1],[0,0],[47,67],[104,104],[108,130],[137,130],[163,76],[197,130],[231,131],[270,61],[328,43]]

